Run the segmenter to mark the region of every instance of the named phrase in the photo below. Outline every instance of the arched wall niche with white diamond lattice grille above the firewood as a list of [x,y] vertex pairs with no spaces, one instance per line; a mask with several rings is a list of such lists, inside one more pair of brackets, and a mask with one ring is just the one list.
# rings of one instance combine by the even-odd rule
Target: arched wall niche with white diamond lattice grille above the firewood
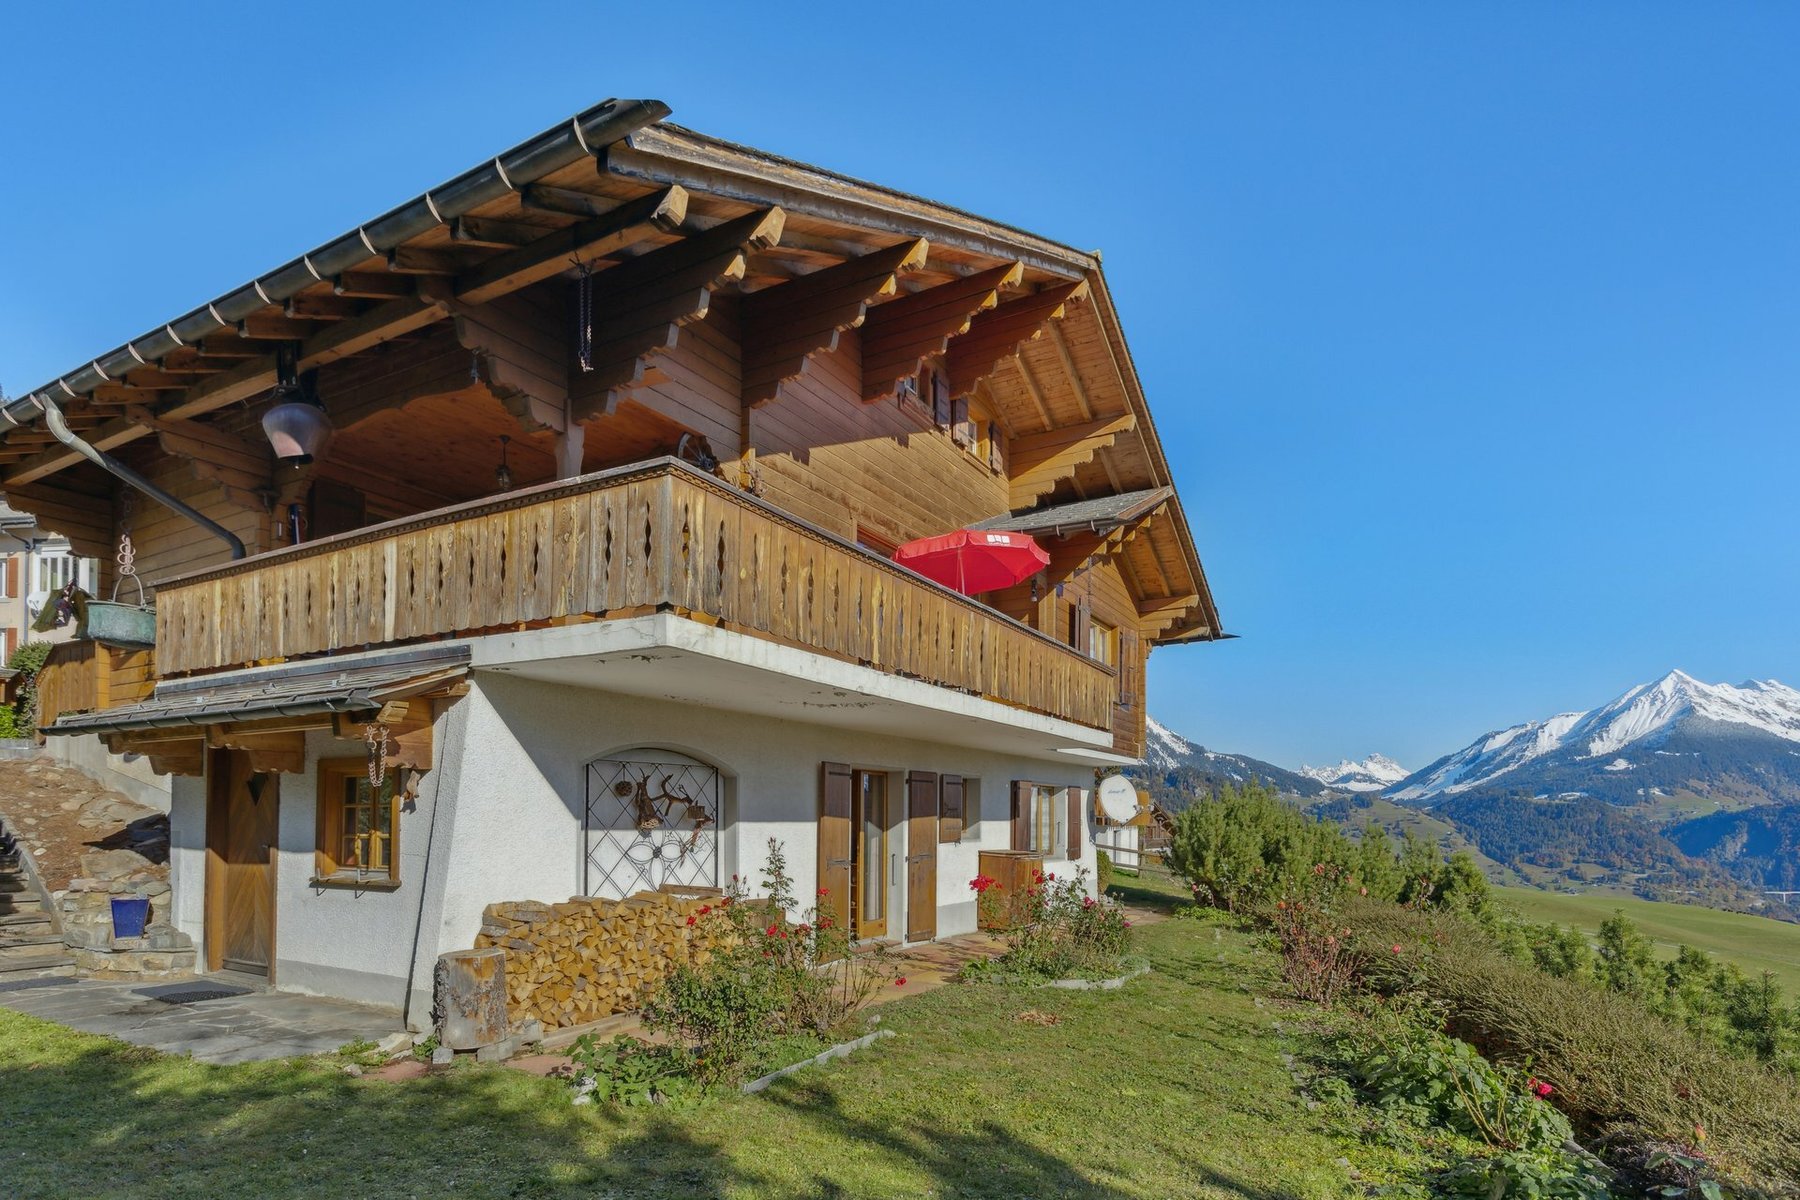
[[718,887],[716,766],[675,750],[621,750],[587,765],[583,891],[623,900],[664,883]]

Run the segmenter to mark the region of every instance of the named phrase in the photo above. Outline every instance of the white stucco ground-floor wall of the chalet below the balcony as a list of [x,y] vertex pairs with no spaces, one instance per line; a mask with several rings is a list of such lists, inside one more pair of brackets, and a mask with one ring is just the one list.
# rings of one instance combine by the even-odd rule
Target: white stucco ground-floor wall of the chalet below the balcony
[[[583,892],[585,768],[635,747],[680,750],[724,775],[720,880],[754,883],[769,838],[788,858],[796,892],[817,889],[819,765],[848,763],[889,774],[889,934],[904,932],[907,770],[968,779],[963,840],[938,849],[938,936],[976,927],[981,849],[1008,849],[1010,784],[1031,779],[1091,788],[1093,768],[1069,763],[880,738],[745,712],[659,702],[587,687],[477,671],[466,696],[437,720],[436,766],[400,822],[400,889],[346,891],[311,883],[317,844],[317,763],[360,757],[360,741],[308,736],[306,770],[281,775],[275,874],[275,986],[382,1006],[430,1022],[432,963],[473,945],[481,912],[500,900],[562,901]],[[979,806],[977,806],[979,797]],[[1076,864],[1093,873],[1091,797]],[[176,779],[171,856],[180,928],[205,934],[205,786]]]

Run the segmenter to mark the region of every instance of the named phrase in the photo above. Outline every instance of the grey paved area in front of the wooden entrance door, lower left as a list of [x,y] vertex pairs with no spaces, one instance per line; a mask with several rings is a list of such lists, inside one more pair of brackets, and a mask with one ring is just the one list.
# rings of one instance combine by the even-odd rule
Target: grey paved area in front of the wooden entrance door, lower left
[[0,1007],[203,1063],[324,1054],[356,1038],[378,1042],[401,1027],[394,1009],[284,991],[180,1002],[194,993],[239,990],[207,977],[158,984],[47,977],[0,986]]

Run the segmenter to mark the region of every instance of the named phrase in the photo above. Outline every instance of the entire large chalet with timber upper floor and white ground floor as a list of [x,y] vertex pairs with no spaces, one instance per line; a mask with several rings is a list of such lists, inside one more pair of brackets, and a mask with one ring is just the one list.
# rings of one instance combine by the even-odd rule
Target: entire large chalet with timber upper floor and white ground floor
[[[79,551],[122,484],[59,414],[223,527],[139,504],[153,673],[68,649],[49,730],[173,774],[212,968],[421,1024],[484,905],[754,880],[770,838],[864,937],[972,930],[983,849],[1093,869],[1148,649],[1220,637],[1096,255],[666,112],[5,408],[0,488]],[[1049,567],[970,599],[886,558],[979,524]]]

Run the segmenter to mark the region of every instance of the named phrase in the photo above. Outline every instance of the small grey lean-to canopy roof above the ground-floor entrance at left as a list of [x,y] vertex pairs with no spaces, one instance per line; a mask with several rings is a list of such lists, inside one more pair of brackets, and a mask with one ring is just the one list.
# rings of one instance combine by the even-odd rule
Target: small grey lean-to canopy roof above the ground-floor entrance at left
[[468,648],[407,649],[356,664],[311,662],[157,684],[149,700],[59,716],[47,734],[122,734],[266,716],[373,712],[389,700],[441,687],[468,671]]

